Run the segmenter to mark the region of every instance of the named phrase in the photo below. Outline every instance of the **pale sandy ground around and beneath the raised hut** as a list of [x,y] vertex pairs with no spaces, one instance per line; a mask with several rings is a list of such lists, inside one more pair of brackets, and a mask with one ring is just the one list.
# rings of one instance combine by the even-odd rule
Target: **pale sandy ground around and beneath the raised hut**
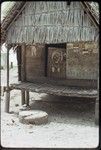
[[[10,82],[17,82],[16,68],[10,70]],[[6,72],[1,72],[2,84]],[[4,112],[5,95],[1,97],[1,145],[3,147],[95,148],[99,128],[94,124],[95,101],[30,93],[30,109],[49,115],[46,125],[25,125],[18,119],[20,91],[11,91],[10,114]]]

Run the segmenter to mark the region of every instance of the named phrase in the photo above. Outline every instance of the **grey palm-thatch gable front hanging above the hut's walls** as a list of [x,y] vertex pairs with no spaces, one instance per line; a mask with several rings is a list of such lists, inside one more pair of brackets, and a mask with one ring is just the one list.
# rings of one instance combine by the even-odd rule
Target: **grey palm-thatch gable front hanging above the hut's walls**
[[80,2],[26,2],[8,30],[8,43],[63,43],[98,40],[98,28]]

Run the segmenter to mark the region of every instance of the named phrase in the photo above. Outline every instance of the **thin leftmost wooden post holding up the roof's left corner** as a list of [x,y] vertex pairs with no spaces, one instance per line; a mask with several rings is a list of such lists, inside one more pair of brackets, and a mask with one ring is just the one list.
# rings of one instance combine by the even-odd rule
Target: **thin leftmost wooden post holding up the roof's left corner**
[[9,90],[9,46],[7,46],[7,87],[5,99],[5,112],[9,113],[10,90]]

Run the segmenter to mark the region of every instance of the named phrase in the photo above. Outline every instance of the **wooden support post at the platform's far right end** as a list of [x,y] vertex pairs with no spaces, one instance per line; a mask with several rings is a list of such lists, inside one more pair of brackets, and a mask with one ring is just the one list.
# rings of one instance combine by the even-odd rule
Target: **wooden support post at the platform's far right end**
[[99,124],[99,78],[98,78],[98,96],[96,98],[95,101],[95,124],[98,125]]

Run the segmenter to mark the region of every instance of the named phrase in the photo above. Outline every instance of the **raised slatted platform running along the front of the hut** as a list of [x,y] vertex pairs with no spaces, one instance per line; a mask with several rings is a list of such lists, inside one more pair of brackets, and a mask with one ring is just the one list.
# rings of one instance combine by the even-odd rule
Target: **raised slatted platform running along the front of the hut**
[[87,97],[96,98],[97,90],[86,89],[80,87],[67,87],[60,85],[52,85],[47,83],[30,83],[21,82],[19,84],[11,84],[10,89],[25,90],[29,92],[46,93],[58,96],[72,96],[72,97]]

